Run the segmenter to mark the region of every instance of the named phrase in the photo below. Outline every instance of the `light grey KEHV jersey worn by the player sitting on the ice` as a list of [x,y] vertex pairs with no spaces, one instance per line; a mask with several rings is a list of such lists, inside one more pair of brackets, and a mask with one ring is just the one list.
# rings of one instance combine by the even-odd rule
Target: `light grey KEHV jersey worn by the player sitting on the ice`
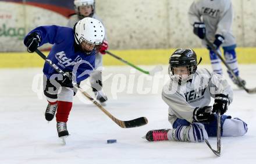
[[207,69],[197,69],[193,79],[182,85],[170,79],[162,90],[162,99],[169,106],[169,122],[179,118],[192,123],[194,109],[209,105],[216,94],[228,95],[230,103],[233,100],[232,88],[223,76]]

